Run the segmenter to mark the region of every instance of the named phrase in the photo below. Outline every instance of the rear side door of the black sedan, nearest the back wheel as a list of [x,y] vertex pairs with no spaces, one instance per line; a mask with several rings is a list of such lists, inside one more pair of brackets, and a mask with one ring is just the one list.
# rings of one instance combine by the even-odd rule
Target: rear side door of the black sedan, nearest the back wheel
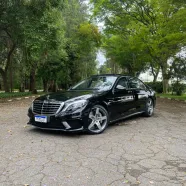
[[129,89],[134,93],[134,104],[136,106],[136,112],[143,111],[146,106],[146,100],[148,98],[148,90],[141,80],[138,78],[129,78]]

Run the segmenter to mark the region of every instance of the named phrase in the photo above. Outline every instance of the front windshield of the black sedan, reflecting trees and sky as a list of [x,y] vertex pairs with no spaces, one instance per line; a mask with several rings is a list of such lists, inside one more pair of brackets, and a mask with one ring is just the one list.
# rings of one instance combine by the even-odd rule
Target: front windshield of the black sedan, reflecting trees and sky
[[81,81],[71,90],[110,90],[116,79],[116,76],[93,76]]

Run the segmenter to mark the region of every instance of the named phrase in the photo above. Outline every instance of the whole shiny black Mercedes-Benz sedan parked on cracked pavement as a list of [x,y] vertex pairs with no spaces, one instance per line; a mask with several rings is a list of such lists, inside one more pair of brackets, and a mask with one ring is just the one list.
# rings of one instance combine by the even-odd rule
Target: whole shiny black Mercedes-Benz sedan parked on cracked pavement
[[36,98],[28,110],[28,124],[99,134],[111,122],[136,114],[152,116],[155,104],[155,92],[138,78],[95,75],[68,91]]

